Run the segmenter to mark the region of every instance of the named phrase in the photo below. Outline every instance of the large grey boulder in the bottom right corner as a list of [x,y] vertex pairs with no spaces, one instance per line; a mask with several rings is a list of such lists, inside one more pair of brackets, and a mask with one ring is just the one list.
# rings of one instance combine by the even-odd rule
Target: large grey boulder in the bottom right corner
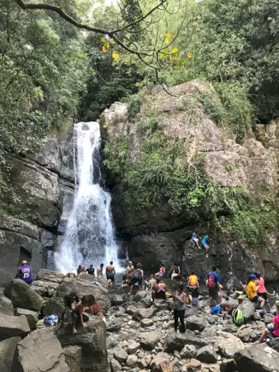
[[266,343],[253,345],[236,352],[234,355],[237,369],[240,372],[278,372],[279,353],[269,348]]

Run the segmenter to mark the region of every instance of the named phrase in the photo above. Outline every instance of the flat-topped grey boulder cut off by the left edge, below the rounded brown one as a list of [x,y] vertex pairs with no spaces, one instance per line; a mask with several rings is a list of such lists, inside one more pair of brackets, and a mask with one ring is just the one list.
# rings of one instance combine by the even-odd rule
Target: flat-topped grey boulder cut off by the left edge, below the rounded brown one
[[0,341],[14,336],[26,336],[30,332],[27,317],[0,313]]

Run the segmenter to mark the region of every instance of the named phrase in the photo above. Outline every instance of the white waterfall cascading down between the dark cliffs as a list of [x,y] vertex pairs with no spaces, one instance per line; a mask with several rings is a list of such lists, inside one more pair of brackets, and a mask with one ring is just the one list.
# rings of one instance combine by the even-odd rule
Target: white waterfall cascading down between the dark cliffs
[[56,269],[72,272],[79,264],[96,268],[117,260],[117,244],[110,210],[111,197],[100,186],[100,126],[77,123],[75,136],[75,202],[65,237],[55,254]]

